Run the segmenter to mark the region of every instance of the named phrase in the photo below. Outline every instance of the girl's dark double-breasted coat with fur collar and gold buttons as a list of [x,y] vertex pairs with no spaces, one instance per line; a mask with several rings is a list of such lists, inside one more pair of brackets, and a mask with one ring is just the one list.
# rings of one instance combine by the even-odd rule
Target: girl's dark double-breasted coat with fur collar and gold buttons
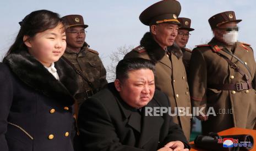
[[0,150],[73,150],[77,75],[62,59],[55,68],[59,81],[27,51],[0,64]]

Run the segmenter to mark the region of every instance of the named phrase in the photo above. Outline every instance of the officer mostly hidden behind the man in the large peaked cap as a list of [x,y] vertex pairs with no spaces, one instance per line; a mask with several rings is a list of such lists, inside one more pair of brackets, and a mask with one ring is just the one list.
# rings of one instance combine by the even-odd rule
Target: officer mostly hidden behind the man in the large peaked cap
[[175,38],[175,43],[181,48],[183,53],[183,63],[186,68],[186,72],[188,74],[189,69],[189,61],[192,55],[192,51],[186,48],[186,44],[188,43],[190,31],[193,31],[193,28],[190,28],[191,20],[188,18],[178,18],[178,21],[181,22],[181,26],[179,26],[178,35]]

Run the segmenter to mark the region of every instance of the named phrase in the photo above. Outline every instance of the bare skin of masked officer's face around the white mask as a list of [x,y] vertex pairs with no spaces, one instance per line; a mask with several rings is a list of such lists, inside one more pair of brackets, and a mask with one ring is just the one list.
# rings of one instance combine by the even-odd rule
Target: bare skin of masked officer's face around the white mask
[[213,30],[214,37],[221,42],[227,43],[224,39],[224,34],[227,34],[228,32],[237,31],[238,27],[236,22],[227,22],[225,24],[222,24],[221,26],[215,28]]

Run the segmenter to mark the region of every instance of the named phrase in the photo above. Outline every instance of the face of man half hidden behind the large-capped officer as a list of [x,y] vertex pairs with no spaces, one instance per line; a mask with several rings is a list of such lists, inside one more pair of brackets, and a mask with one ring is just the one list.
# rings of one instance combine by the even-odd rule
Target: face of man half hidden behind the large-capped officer
[[178,30],[178,35],[175,38],[175,42],[180,48],[184,48],[186,46],[186,44],[188,43],[188,39],[189,39],[188,30]]

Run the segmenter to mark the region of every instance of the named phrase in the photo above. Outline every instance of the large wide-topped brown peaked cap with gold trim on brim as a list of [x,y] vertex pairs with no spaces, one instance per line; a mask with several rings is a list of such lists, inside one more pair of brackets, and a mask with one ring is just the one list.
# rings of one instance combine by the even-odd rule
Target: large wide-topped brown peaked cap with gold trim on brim
[[181,13],[181,4],[176,0],[163,0],[152,4],[146,8],[139,16],[144,25],[161,24],[162,22],[171,22],[179,24],[177,19]]

